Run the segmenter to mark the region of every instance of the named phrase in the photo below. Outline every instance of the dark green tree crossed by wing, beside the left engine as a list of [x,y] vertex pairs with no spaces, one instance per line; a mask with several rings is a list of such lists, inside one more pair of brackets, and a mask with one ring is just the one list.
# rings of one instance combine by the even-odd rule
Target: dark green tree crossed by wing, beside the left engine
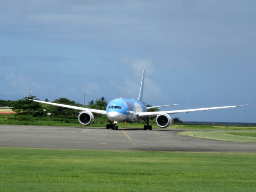
[[[69,100],[67,98],[56,99],[56,100],[54,100],[54,103],[78,106],[77,102]],[[50,112],[52,114],[52,116],[58,117],[58,118],[75,119],[78,116],[78,110],[70,109],[70,108],[64,108],[64,107],[58,107],[58,106],[52,106],[52,105],[49,107],[47,112]]]

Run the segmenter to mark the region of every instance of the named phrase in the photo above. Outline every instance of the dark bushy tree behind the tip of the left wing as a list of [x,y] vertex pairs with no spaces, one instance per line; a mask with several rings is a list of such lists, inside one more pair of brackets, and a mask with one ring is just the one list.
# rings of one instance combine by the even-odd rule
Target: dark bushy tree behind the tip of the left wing
[[[38,100],[36,96],[30,96],[27,98]],[[26,97],[16,101],[13,105],[12,110],[16,112],[16,115],[22,114],[22,115],[31,115],[31,116],[37,117],[37,116],[44,116],[46,114],[40,103],[28,100],[26,99]]]

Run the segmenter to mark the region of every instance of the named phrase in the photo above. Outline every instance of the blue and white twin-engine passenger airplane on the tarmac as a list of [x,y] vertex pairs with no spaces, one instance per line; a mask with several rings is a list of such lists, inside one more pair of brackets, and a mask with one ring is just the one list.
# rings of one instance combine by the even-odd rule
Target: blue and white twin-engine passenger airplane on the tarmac
[[113,99],[107,104],[106,110],[70,106],[66,104],[32,100],[28,98],[27,99],[32,100],[34,102],[80,110],[81,112],[78,115],[78,121],[80,122],[80,124],[85,126],[93,123],[94,113],[106,115],[109,120],[109,124],[106,125],[106,128],[107,129],[111,128],[113,130],[118,130],[118,123],[120,122],[133,123],[133,122],[138,122],[140,120],[143,120],[146,123],[146,125],[144,125],[143,127],[144,130],[152,130],[152,125],[150,125],[150,122],[149,122],[149,118],[151,116],[156,116],[156,124],[160,128],[166,128],[172,123],[172,119],[169,114],[175,114],[175,113],[181,113],[181,112],[188,113],[192,111],[201,111],[201,110],[206,111],[206,110],[222,109],[222,108],[234,108],[234,107],[248,105],[246,104],[246,105],[236,105],[236,106],[221,106],[221,107],[208,107],[208,108],[185,109],[185,110],[167,110],[167,111],[147,112],[148,109],[174,106],[178,104],[147,107],[146,103],[143,102],[142,100],[143,88],[144,88],[144,75],[145,75],[145,69],[143,70],[143,73],[142,73],[142,80],[140,84],[140,92],[139,92],[138,99],[127,99],[122,97]]

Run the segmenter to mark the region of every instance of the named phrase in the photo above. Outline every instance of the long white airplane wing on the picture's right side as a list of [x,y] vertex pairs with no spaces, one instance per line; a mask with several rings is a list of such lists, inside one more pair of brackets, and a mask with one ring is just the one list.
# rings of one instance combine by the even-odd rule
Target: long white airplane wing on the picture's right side
[[[246,104],[248,105],[248,104]],[[167,113],[167,114],[174,114],[174,113],[182,113],[182,112],[191,112],[191,111],[206,111],[211,109],[223,109],[223,108],[233,108],[233,107],[241,107],[246,105],[235,105],[235,106],[223,106],[223,107],[208,107],[208,108],[198,108],[198,109],[184,109],[184,110],[172,110],[172,111],[156,111],[156,112],[138,112],[136,113],[137,116],[140,118],[149,117],[149,116],[156,116],[160,113]]]

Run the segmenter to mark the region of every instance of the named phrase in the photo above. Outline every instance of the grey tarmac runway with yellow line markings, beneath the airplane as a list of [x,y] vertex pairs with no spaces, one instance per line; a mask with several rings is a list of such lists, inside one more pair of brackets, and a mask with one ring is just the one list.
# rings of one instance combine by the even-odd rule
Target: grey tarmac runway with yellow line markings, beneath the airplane
[[256,152],[255,143],[179,135],[179,130],[0,125],[0,147],[188,152]]

